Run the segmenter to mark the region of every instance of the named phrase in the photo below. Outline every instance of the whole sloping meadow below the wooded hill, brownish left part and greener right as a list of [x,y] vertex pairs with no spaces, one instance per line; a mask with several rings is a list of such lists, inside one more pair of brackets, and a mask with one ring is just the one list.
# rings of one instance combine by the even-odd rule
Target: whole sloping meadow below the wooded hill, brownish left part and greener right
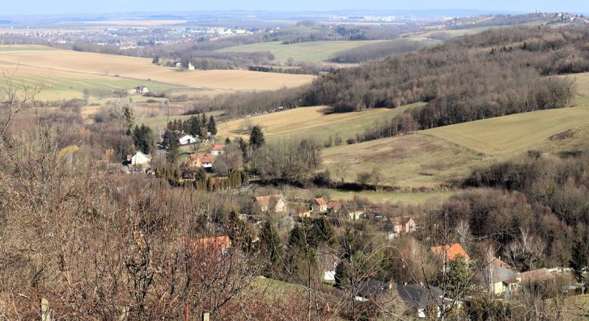
[[[559,133],[572,133],[550,140]],[[345,161],[347,181],[378,168],[384,185],[436,188],[465,178],[473,167],[530,150],[547,153],[583,148],[589,137],[589,108],[535,111],[420,131],[323,150],[323,163],[335,172]]]

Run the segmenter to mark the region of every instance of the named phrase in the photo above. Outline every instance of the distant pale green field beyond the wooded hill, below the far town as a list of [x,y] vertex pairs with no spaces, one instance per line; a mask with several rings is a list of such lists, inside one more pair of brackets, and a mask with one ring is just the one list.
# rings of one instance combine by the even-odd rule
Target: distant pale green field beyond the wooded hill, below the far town
[[233,46],[220,49],[221,52],[267,52],[275,56],[276,61],[285,63],[288,58],[296,62],[301,61],[326,61],[333,58],[339,51],[356,48],[365,44],[374,44],[373,41],[309,41],[298,44],[282,44],[281,41],[261,42],[243,46]]

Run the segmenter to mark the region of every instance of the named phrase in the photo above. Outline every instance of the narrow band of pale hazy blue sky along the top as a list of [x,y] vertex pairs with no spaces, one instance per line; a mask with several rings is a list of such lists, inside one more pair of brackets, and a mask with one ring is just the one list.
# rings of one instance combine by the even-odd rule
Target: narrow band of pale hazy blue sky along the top
[[[84,1],[86,2],[86,1]],[[103,0],[80,3],[74,0],[21,0],[4,4],[0,16],[40,16],[40,15],[72,15],[72,14],[149,14],[149,13],[194,13],[206,11],[267,11],[267,12],[333,12],[333,11],[488,11],[505,13],[569,12],[573,14],[589,13],[589,1],[579,4],[577,0],[561,0],[558,3],[548,0],[539,1],[467,1],[467,0],[416,0],[385,1],[365,0],[363,8],[356,8],[357,1],[349,0],[300,0],[296,3],[280,3],[269,0],[237,0],[190,1],[169,0],[166,3],[156,0],[145,0],[139,4],[128,0]],[[311,9],[311,10],[310,10]]]

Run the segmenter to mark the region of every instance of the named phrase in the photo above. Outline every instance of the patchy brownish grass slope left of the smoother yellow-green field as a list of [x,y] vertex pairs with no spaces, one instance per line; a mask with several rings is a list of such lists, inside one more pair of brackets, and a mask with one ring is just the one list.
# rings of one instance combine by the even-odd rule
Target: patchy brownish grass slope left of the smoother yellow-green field
[[411,188],[439,188],[443,183],[468,175],[484,156],[443,141],[414,133],[406,136],[327,148],[323,165],[335,173],[338,162],[348,170],[346,181],[356,181],[359,172],[381,170],[382,185]]

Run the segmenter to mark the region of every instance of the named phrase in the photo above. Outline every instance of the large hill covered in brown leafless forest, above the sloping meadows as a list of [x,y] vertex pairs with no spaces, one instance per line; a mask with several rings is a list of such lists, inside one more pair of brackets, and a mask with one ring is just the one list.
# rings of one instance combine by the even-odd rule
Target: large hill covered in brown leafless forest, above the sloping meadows
[[572,83],[549,76],[588,71],[588,39],[572,28],[485,31],[334,71],[313,83],[306,102],[346,112],[426,101],[411,111],[421,128],[560,108]]

